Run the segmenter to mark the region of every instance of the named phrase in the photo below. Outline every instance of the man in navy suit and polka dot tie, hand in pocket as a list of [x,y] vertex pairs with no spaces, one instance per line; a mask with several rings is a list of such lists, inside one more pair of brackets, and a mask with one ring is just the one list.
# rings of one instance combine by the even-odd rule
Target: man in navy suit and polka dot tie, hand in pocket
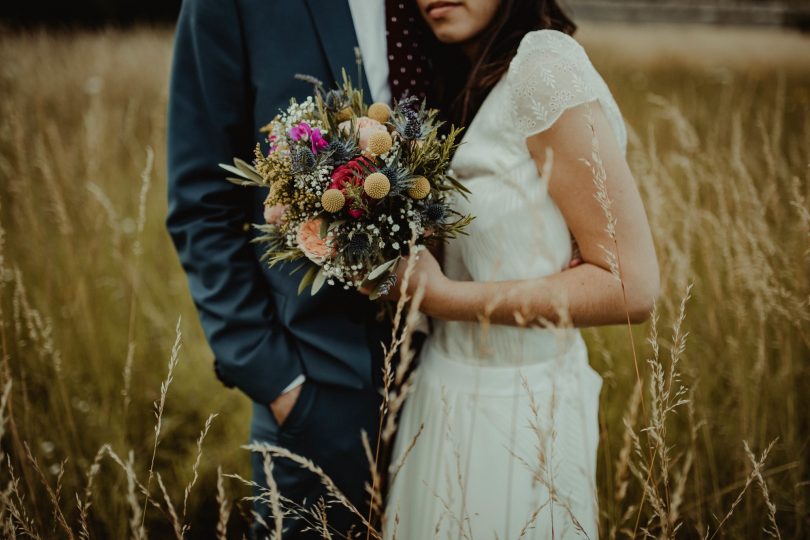
[[[185,0],[172,67],[167,227],[217,375],[253,401],[252,441],[311,458],[361,512],[370,474],[360,434],[376,436],[381,343],[390,340],[390,322],[378,320],[379,306],[355,291],[325,287],[298,295],[301,273],[262,264],[250,224],[262,221],[266,193],[230,184],[218,163],[234,156],[249,161],[263,139],[259,128],[290,97],[312,93],[296,74],[333,86],[342,69],[356,73],[358,46],[367,100],[389,102],[392,87],[404,90],[389,77],[395,59],[389,49],[401,53],[416,43],[389,45],[398,34],[386,33],[386,16],[391,30],[394,10],[410,4]],[[265,485],[261,456],[252,460],[254,480]],[[311,504],[323,495],[317,478],[286,460],[274,461],[273,476],[292,500]],[[264,505],[256,510],[270,519]],[[356,525],[337,508],[329,521],[340,532]],[[284,526],[285,538],[305,537],[303,520],[288,518]]]

